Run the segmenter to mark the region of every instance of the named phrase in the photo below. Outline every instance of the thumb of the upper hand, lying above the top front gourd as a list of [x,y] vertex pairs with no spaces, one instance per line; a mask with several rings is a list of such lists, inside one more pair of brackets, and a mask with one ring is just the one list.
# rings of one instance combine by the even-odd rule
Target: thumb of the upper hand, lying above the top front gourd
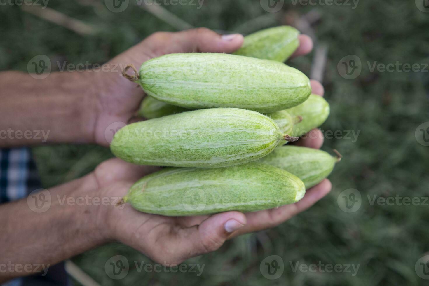
[[197,28],[175,33],[182,52],[232,53],[243,44],[241,34],[220,35],[207,28]]

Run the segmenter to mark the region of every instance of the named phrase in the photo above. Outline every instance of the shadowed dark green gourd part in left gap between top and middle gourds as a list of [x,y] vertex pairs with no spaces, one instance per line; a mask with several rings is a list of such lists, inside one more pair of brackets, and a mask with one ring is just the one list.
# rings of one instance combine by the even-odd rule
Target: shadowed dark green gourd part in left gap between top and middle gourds
[[189,111],[189,109],[159,101],[151,96],[146,96],[140,104],[137,115],[147,119],[153,119],[184,111]]

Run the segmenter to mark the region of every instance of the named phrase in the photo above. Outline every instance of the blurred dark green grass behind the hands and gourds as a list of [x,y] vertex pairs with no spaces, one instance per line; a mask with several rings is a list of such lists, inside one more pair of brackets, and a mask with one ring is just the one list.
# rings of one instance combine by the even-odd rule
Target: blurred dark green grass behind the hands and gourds
[[[205,264],[195,273],[138,273],[133,261],[149,262],[144,255],[121,244],[91,250],[73,261],[102,285],[427,285],[414,270],[417,259],[429,251],[428,206],[371,205],[367,195],[428,196],[429,153],[414,132],[428,121],[429,77],[426,72],[370,72],[367,61],[377,63],[428,63],[429,13],[414,1],[360,1],[351,6],[293,5],[269,13],[260,1],[205,0],[201,9],[191,5],[163,5],[195,27],[251,33],[280,24],[296,24],[305,15],[318,15],[311,23],[317,39],[328,45],[323,77],[331,115],[322,130],[360,131],[357,141],[326,139],[323,149],[338,149],[344,156],[330,176],[332,192],[310,210],[274,229],[228,241],[220,250],[190,259]],[[84,36],[24,12],[16,5],[0,7],[0,69],[27,70],[39,54],[67,63],[104,63],[160,30],[177,27],[130,5],[124,12],[106,9],[104,1],[57,0],[48,3],[69,17],[97,29]],[[308,14],[310,13],[310,14]],[[320,16],[320,17],[319,17]],[[337,71],[347,55],[360,57],[359,77],[348,80]],[[313,54],[289,62],[310,74]],[[422,66],[423,67],[423,66]],[[42,115],[42,114],[41,114]],[[107,148],[87,145],[43,146],[33,149],[43,187],[79,178],[111,157]],[[341,211],[338,195],[355,188],[362,206],[355,213]],[[64,246],[66,247],[66,246]],[[130,271],[112,280],[104,271],[111,256],[124,255]],[[284,273],[268,280],[260,262],[278,255]],[[293,273],[290,262],[360,264],[351,273]]]

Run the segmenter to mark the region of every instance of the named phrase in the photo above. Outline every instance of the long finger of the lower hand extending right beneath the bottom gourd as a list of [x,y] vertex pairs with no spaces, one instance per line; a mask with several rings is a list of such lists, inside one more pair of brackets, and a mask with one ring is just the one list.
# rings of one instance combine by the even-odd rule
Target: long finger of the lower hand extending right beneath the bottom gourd
[[310,208],[317,201],[326,196],[332,188],[331,182],[327,179],[305,192],[305,196],[298,202],[291,205],[284,205],[278,209],[257,211],[246,214],[247,224],[234,232],[231,236],[242,235],[249,232],[256,232],[262,229],[278,226],[291,217]]

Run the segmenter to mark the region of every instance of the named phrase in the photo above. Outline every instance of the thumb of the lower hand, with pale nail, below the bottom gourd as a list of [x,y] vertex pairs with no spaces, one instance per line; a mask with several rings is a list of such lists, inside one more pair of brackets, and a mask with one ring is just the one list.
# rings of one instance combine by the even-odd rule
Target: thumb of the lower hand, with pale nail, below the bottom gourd
[[[199,226],[178,230],[175,245],[177,261],[184,261],[217,250],[227,238],[246,224],[246,216],[238,211],[215,214]],[[169,244],[172,244],[171,241]],[[172,245],[173,245],[172,244]]]

